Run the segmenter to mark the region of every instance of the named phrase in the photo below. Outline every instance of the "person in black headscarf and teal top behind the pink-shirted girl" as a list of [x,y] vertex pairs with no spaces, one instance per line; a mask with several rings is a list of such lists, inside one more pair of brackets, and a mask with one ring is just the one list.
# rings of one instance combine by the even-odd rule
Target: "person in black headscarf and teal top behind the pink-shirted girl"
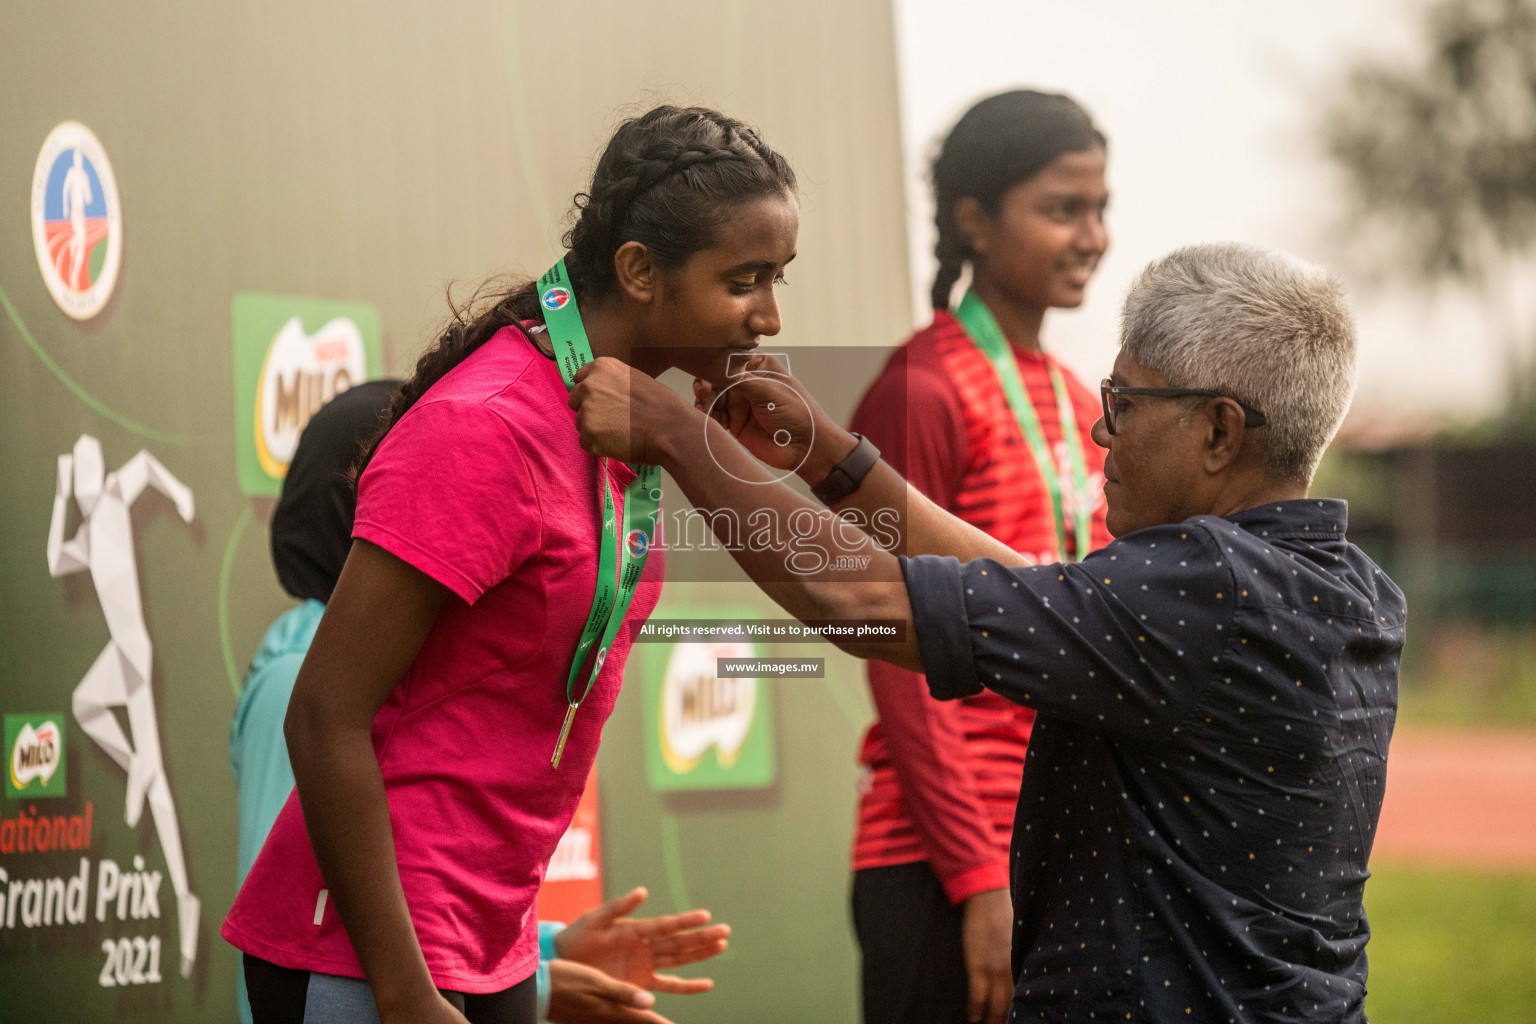
[[[353,461],[378,431],[398,387],[398,381],[370,381],[333,398],[304,427],[283,479],[283,496],[272,513],[272,565],[283,590],[301,603],[278,616],[261,637],[229,731],[240,801],[240,883],[293,792],[283,718],[352,547]],[[570,927],[539,921],[539,1019],[668,1024],[651,1010],[651,990],[696,993],[714,986],[708,978],[659,975],[656,969],[723,952],[730,926],[711,926],[708,910],[630,918],[645,897],[645,889],[633,889],[581,915]],[[237,978],[240,1019],[252,1024],[244,972]],[[358,984],[366,993],[366,983]],[[367,999],[372,1006],[372,996]]]

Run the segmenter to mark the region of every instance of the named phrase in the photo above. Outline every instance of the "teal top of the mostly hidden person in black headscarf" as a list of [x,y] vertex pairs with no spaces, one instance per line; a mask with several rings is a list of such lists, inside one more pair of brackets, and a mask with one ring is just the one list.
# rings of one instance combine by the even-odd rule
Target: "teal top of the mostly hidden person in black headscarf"
[[[283,718],[287,702],[293,695],[293,682],[304,654],[319,628],[326,606],[318,600],[306,600],[298,608],[283,613],[261,637],[257,656],[246,669],[246,686],[235,705],[235,722],[229,728],[229,765],[235,771],[235,791],[240,797],[240,874],[246,874],[257,861],[267,832],[278,812],[293,792],[293,768],[287,760],[287,740],[283,737]],[[550,1009],[550,966],[554,960],[554,936],[564,926],[539,921],[539,1019]],[[241,1024],[252,1024],[250,999],[246,996],[246,972],[235,972],[240,987]]]

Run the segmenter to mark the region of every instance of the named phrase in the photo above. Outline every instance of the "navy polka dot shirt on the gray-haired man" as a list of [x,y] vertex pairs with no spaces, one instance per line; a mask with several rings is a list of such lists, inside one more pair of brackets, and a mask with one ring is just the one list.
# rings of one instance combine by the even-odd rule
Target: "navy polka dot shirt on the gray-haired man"
[[1015,1021],[1364,1021],[1402,591],[1299,499],[1075,565],[905,560],[928,685],[1040,714]]

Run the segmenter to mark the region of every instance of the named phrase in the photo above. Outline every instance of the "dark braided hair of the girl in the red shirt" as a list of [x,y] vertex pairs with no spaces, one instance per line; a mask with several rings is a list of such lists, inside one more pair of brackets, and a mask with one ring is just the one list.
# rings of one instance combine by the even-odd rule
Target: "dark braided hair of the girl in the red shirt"
[[1106,149],[1104,134],[1087,111],[1054,92],[1014,89],[988,97],[955,123],[934,157],[934,223],[938,241],[934,255],[931,299],[935,310],[949,309],[949,293],[971,259],[971,243],[955,223],[955,204],[971,197],[991,215],[1003,195],[1029,181],[1061,154]]

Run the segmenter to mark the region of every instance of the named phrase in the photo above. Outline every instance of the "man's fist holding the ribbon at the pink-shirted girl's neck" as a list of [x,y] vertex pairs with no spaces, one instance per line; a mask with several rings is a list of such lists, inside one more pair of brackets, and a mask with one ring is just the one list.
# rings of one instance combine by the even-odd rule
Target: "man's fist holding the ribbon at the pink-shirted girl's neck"
[[591,454],[660,465],[667,434],[697,419],[670,387],[611,356],[593,359],[574,381],[568,404],[581,447]]

